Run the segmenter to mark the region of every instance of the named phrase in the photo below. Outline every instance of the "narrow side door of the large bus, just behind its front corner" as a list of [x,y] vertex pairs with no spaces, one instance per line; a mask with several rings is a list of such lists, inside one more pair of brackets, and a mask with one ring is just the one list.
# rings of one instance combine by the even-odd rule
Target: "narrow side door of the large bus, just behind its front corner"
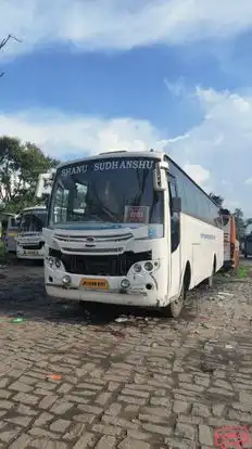
[[180,214],[173,210],[173,200],[178,196],[176,179],[168,175],[169,214],[171,214],[171,259],[169,259],[169,297],[179,293],[181,284],[181,245],[180,245]]

